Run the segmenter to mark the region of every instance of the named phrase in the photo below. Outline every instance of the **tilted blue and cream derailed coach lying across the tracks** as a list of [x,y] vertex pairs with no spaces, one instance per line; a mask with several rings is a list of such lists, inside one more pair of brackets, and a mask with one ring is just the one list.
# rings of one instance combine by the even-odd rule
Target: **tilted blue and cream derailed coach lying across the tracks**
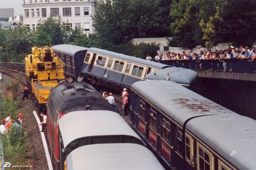
[[81,76],[92,84],[120,89],[130,88],[134,82],[142,79],[174,81],[189,86],[197,78],[197,73],[190,69],[168,66],[99,48],[89,48],[84,58]]

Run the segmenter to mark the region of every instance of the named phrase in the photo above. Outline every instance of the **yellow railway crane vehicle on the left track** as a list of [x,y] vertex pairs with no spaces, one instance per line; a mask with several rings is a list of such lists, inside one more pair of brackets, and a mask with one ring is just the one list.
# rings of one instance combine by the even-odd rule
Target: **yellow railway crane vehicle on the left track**
[[63,64],[48,46],[34,46],[32,53],[25,57],[27,84],[35,104],[44,110],[50,90],[65,80]]

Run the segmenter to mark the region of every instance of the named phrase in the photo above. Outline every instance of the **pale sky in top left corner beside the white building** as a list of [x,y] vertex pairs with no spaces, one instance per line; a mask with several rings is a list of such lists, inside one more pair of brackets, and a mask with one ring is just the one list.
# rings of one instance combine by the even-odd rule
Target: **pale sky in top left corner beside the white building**
[[23,0],[0,0],[0,8],[14,8],[14,16],[23,14]]

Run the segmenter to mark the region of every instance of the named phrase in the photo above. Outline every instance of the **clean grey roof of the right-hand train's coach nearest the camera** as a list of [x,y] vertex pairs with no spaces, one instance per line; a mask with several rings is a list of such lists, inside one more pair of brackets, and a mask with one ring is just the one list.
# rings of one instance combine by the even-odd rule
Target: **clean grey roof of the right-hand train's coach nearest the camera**
[[255,169],[255,120],[238,114],[201,116],[186,128],[239,169]]

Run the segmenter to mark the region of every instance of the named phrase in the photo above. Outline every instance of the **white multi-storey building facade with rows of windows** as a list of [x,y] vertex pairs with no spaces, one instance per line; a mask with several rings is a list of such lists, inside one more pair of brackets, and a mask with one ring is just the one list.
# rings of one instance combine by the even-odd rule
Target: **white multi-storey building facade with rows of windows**
[[53,14],[61,17],[66,26],[83,30],[83,33],[95,33],[93,19],[95,15],[95,0],[24,0],[24,26],[33,30],[39,20],[43,21]]

